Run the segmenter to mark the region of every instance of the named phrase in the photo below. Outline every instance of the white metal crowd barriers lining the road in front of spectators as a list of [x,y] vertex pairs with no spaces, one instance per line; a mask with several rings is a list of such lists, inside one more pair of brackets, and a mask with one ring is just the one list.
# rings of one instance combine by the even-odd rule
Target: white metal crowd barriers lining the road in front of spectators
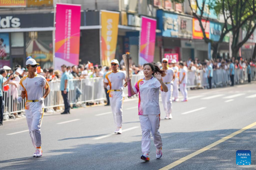
[[[251,68],[251,81],[256,80],[256,68]],[[240,84],[248,80],[247,69],[235,70],[235,83]],[[137,81],[143,79],[143,74],[137,74],[131,76],[132,86]],[[212,86],[223,87],[230,85],[229,70],[218,69],[213,71]],[[60,80],[50,81],[50,93],[45,99],[45,106],[47,109],[58,109],[58,107],[64,106],[63,98],[60,91]],[[86,102],[99,102],[106,99],[104,82],[102,77],[87,78],[87,79],[71,79],[69,81],[70,91],[68,99],[70,104],[78,105]],[[188,72],[188,84],[187,88],[201,88],[208,87],[207,73],[204,70],[189,71]],[[15,116],[14,113],[20,113],[25,110],[25,100],[21,103],[17,102],[17,99],[12,95],[12,85],[9,85],[9,90],[3,92],[4,107],[3,113],[8,116]],[[21,91],[17,87],[18,96]],[[128,96],[128,88],[124,89],[125,96]]]

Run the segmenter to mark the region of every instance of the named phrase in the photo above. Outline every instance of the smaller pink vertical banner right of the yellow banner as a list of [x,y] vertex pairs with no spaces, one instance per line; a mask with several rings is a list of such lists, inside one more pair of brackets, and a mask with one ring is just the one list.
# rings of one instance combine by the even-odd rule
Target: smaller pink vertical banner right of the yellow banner
[[157,20],[141,17],[139,64],[154,61]]

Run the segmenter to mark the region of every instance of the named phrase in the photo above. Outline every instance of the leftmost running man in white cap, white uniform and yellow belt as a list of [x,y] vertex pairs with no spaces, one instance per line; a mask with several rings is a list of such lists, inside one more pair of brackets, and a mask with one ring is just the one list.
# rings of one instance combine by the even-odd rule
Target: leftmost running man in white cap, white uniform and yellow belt
[[[34,157],[42,156],[41,149],[41,124],[44,115],[44,99],[50,92],[47,80],[36,74],[36,67],[39,65],[35,59],[26,61],[26,68],[29,74],[20,79],[21,95],[17,98],[20,103],[26,97],[25,113],[29,127],[29,134],[32,139],[32,144],[36,147]],[[45,89],[45,92],[44,92]]]

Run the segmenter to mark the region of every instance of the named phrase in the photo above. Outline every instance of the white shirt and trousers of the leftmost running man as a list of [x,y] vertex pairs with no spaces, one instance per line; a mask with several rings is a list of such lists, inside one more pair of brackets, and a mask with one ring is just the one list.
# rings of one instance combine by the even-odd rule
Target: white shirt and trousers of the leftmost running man
[[41,147],[41,124],[44,116],[44,101],[38,102],[43,97],[44,88],[49,84],[45,77],[36,74],[34,78],[28,76],[20,79],[20,90],[26,92],[25,113],[26,121],[29,127],[29,134],[34,147]]

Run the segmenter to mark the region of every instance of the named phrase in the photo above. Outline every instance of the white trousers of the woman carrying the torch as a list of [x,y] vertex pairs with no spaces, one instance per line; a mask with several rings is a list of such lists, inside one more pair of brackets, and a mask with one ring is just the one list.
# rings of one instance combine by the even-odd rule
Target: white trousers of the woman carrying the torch
[[160,114],[152,115],[139,115],[140,116],[140,126],[142,130],[142,140],[141,140],[141,151],[143,154],[150,152],[150,132],[154,139],[154,145],[157,148],[162,147],[162,139],[160,132],[158,131],[160,127]]

